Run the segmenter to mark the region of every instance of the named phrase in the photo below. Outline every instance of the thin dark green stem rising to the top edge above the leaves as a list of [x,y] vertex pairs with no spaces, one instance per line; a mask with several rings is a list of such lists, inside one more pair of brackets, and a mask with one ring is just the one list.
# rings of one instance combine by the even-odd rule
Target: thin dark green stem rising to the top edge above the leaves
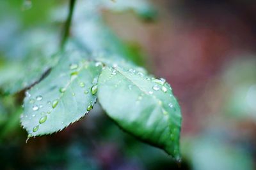
[[63,47],[64,47],[64,45],[67,41],[69,32],[70,32],[70,25],[71,25],[71,21],[72,21],[72,15],[73,15],[75,3],[76,3],[76,0],[70,0],[69,10],[68,10],[68,17],[67,17],[67,20],[65,22],[63,33],[62,33],[62,36],[61,36],[61,49],[63,49]]

